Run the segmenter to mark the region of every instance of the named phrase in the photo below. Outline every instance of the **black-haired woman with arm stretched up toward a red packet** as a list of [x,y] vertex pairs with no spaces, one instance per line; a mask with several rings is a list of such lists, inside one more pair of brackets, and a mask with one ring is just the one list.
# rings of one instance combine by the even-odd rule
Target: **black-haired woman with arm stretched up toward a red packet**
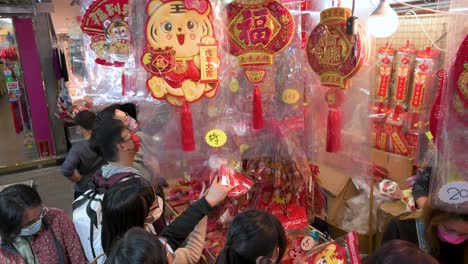
[[[132,227],[144,227],[145,219],[151,215],[152,202],[145,199],[147,188],[145,180],[129,179],[114,185],[104,195],[101,241],[109,259],[119,259],[116,255],[125,254],[127,249],[116,251],[112,247]],[[167,260],[162,263],[198,263],[205,244],[206,215],[227,197],[231,189],[221,185],[217,177],[206,195],[192,203],[161,234],[153,236],[165,249],[163,256]],[[106,260],[106,263],[114,262]]]

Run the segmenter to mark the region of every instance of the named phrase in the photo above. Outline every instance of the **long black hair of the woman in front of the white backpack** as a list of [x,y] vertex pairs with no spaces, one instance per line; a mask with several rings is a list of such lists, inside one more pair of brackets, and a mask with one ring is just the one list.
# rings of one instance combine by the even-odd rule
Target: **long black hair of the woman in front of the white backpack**
[[132,227],[143,227],[155,200],[151,184],[143,178],[119,182],[102,201],[101,243],[109,254],[112,245]]

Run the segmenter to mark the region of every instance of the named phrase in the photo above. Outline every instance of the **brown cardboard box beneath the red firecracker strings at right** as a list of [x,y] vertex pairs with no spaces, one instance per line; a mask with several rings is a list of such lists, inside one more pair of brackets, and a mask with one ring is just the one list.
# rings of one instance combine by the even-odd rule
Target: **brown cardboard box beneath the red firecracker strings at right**
[[372,162],[387,170],[389,180],[396,182],[402,190],[411,187],[408,178],[413,176],[413,158],[375,148],[371,149],[370,154]]

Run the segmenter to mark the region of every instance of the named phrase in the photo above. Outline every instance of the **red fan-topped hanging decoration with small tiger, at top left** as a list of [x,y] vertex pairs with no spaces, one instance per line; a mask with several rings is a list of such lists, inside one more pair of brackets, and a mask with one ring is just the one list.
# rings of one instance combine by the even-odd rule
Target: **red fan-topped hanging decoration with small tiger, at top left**
[[122,67],[130,52],[128,0],[96,0],[83,17],[81,30],[90,35],[97,64]]

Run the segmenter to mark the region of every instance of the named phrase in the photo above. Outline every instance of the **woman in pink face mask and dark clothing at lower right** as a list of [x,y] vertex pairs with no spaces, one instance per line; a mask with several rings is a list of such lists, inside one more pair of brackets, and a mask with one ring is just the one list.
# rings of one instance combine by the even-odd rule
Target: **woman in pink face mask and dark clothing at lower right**
[[393,219],[382,244],[406,240],[423,247],[442,264],[468,263],[468,212],[452,213],[426,205],[421,220],[417,224],[414,219]]

